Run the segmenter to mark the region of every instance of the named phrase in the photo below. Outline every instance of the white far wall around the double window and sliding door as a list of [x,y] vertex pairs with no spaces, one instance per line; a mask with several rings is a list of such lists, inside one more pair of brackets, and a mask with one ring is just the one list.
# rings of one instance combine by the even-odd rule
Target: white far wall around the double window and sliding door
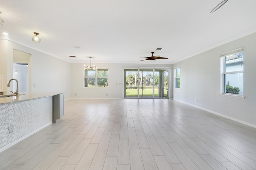
[[[153,62],[153,61],[152,61]],[[122,98],[123,94],[123,69],[122,67],[169,67],[170,64],[109,64],[95,63],[98,68],[108,68],[108,88],[84,88],[84,64],[72,63],[72,98]],[[92,61],[92,64],[93,61]],[[116,85],[118,83],[118,85]],[[120,86],[119,83],[122,83]],[[75,96],[75,93],[77,94]],[[106,96],[108,94],[108,96]]]

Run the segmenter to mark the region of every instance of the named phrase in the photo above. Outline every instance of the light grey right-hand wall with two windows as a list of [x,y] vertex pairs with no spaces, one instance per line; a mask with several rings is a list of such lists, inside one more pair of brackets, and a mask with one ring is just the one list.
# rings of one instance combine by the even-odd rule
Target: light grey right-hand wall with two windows
[[[173,98],[256,126],[255,44],[256,33],[173,64],[181,69]],[[220,53],[239,47],[244,47],[244,99],[220,95]]]

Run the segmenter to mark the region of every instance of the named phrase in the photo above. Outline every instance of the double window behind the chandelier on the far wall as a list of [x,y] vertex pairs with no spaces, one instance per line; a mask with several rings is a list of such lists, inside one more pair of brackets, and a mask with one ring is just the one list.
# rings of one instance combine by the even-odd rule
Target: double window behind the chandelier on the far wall
[[108,87],[108,69],[85,69],[84,87]]

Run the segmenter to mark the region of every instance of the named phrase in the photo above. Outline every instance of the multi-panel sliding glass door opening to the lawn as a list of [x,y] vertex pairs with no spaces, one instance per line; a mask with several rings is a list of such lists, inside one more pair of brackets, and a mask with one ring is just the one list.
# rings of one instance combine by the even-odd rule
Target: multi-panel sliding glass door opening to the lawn
[[124,69],[124,98],[168,98],[167,69]]

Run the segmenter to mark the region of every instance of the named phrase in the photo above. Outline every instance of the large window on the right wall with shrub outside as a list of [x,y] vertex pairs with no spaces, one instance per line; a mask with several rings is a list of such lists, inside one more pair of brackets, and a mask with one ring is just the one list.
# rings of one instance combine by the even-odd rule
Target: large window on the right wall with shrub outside
[[244,93],[243,48],[222,53],[220,57],[222,94],[242,96]]

